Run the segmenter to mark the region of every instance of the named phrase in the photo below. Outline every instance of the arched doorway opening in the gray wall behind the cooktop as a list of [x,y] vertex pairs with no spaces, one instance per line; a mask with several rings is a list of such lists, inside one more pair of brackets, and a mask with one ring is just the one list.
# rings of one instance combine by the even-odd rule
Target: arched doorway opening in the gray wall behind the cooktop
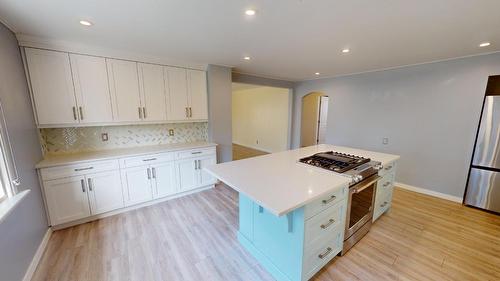
[[328,96],[312,92],[302,97],[300,146],[311,146],[325,142]]

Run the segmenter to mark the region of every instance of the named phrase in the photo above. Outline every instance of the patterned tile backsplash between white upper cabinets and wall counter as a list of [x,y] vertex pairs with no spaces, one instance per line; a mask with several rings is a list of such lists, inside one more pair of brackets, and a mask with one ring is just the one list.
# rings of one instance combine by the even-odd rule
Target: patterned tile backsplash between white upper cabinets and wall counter
[[[174,135],[169,135],[169,129]],[[101,134],[108,134],[108,141]],[[62,154],[208,140],[208,123],[175,123],[40,129],[45,153]]]

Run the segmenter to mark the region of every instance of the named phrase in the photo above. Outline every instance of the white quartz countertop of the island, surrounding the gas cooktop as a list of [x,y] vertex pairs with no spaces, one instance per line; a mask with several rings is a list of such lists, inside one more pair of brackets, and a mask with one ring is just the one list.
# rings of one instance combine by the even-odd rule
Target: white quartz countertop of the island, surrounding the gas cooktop
[[282,216],[349,184],[347,176],[298,162],[302,157],[329,150],[368,157],[382,165],[399,159],[397,155],[320,144],[205,169],[268,211]]

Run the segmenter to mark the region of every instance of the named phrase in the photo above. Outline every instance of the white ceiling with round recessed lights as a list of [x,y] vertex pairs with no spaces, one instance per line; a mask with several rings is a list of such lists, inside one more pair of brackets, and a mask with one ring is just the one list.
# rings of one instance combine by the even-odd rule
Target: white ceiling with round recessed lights
[[0,1],[16,33],[287,80],[500,51],[499,11],[499,0]]

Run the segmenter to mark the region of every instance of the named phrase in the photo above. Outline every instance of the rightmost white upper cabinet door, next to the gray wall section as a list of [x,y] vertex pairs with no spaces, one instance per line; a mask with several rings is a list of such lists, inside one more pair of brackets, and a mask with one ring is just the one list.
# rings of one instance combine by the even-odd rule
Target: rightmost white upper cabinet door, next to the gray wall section
[[208,119],[207,75],[201,70],[187,70],[190,118]]

